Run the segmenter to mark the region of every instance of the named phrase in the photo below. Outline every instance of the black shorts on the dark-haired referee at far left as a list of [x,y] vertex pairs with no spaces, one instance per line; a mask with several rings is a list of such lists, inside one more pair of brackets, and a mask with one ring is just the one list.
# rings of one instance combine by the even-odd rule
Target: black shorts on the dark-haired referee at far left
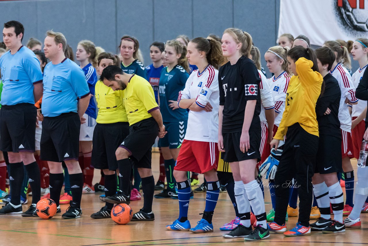
[[3,105],[0,110],[0,150],[35,152],[37,108],[30,103]]

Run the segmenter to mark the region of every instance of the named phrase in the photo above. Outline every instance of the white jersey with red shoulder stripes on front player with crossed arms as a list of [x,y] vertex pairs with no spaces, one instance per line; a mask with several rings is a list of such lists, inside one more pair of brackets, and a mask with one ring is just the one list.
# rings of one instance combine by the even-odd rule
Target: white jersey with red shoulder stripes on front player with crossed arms
[[201,74],[194,70],[185,83],[184,90],[179,92],[178,103],[181,99],[196,98],[195,102],[199,107],[205,107],[208,102],[213,107],[211,112],[189,111],[184,139],[217,143],[220,105],[218,75],[219,71],[213,66],[208,66]]

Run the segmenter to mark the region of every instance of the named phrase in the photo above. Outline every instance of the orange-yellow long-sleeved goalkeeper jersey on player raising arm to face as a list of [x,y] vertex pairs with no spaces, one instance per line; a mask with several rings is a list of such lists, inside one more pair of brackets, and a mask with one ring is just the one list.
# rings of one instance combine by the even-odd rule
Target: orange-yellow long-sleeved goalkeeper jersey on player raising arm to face
[[299,123],[309,134],[319,136],[315,108],[321,94],[323,77],[312,70],[311,60],[302,57],[296,61],[295,65],[298,76],[290,79],[286,92],[285,111],[274,137],[279,140],[284,139],[287,128],[295,123]]

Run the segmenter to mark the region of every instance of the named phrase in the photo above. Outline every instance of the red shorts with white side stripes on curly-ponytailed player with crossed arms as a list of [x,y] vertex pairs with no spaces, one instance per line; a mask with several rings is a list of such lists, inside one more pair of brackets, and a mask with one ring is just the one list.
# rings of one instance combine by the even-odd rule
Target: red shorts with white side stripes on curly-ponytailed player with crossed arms
[[214,142],[200,142],[184,139],[174,170],[205,173],[217,170],[219,148]]

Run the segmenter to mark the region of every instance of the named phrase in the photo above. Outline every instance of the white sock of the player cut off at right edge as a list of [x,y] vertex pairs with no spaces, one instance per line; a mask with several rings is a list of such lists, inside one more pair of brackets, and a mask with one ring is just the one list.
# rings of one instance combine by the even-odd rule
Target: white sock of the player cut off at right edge
[[358,181],[355,186],[354,207],[349,215],[349,218],[353,220],[359,218],[364,202],[367,199],[367,195],[364,195],[364,190],[368,188],[368,167],[358,167],[357,176]]

